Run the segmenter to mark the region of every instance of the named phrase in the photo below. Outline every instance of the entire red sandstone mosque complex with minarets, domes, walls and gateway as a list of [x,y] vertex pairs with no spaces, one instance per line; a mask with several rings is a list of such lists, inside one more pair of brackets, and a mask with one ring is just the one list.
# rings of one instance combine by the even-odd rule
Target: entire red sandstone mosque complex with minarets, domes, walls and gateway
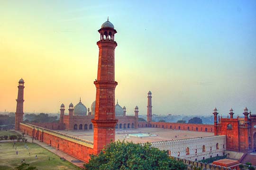
[[[153,147],[165,150],[170,156],[174,156],[187,165],[207,169],[205,164],[198,161],[223,154],[238,155],[238,161],[255,162],[256,156],[251,153],[256,151],[256,115],[244,110],[244,118],[233,118],[233,110],[230,118],[218,117],[215,108],[214,125],[168,123],[152,121],[152,93],[147,93],[147,120],[138,121],[138,107],[134,109],[134,116],[126,115],[126,107],[123,108],[117,102],[115,104],[115,48],[117,42],[114,37],[117,31],[112,23],[107,20],[101,25],[99,47],[99,63],[97,79],[93,82],[96,87],[96,100],[91,104],[91,110],[86,108],[82,101],[75,106],[68,106],[68,115],[64,114],[65,106],[60,106],[60,121],[58,123],[26,123],[23,122],[24,80],[18,82],[18,99],[15,112],[15,129],[27,136],[32,136],[40,142],[55,147],[81,161],[89,162],[92,154],[98,154],[105,145],[115,141],[116,129],[129,128],[161,128],[165,131],[195,133],[207,132],[206,137],[192,137],[179,140],[161,140],[151,142]],[[249,116],[248,116],[249,115]],[[66,131],[93,131],[92,141],[61,133]],[[151,130],[151,129],[150,129]],[[168,136],[167,136],[168,137]],[[154,138],[154,137],[151,137]],[[138,138],[140,140],[140,138]],[[141,143],[141,142],[140,142]],[[211,165],[210,165],[211,166]],[[212,166],[208,169],[231,170]]]

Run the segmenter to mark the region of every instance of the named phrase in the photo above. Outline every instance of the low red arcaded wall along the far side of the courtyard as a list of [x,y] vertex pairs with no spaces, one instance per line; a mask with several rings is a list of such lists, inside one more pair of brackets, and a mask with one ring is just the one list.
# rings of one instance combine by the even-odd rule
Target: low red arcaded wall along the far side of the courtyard
[[187,123],[170,123],[170,122],[138,122],[139,127],[157,127],[157,128],[170,128],[176,130],[190,130],[199,132],[214,133],[214,125],[203,124],[187,124]]

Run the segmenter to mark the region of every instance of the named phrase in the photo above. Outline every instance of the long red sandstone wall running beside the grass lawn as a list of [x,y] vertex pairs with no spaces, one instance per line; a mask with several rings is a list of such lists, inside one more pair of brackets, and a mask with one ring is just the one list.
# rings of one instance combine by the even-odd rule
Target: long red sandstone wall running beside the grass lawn
[[[25,132],[25,134],[29,136],[32,136],[33,134],[33,128],[23,126],[23,125],[20,125],[20,131]],[[47,132],[41,132],[37,130],[37,128],[34,130],[34,137],[37,140],[40,140],[41,142],[44,142],[46,144],[51,144],[52,147],[55,147],[60,151],[63,151],[64,153],[67,153],[85,162],[89,162],[91,158],[91,154],[93,153],[93,149],[90,147],[86,147],[82,144],[77,144],[77,143],[62,139],[60,137],[50,135]]]

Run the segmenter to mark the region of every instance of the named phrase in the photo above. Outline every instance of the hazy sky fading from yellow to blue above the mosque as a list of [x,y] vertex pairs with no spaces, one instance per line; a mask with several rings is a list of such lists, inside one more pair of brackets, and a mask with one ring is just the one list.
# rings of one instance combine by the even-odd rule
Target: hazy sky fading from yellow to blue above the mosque
[[[127,114],[256,114],[255,0],[0,0],[0,111],[59,112],[95,100],[97,32],[117,34],[115,95]],[[67,109],[65,110],[68,111]]]

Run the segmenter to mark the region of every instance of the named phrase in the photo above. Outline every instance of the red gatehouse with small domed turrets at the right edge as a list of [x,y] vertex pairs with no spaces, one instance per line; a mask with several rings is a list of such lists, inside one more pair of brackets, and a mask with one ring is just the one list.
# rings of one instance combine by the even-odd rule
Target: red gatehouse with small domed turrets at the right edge
[[[227,150],[251,153],[256,151],[256,115],[244,109],[245,118],[234,118],[234,112],[229,110],[230,118],[218,117],[214,109],[215,135],[227,136]],[[248,117],[249,115],[249,117]]]

